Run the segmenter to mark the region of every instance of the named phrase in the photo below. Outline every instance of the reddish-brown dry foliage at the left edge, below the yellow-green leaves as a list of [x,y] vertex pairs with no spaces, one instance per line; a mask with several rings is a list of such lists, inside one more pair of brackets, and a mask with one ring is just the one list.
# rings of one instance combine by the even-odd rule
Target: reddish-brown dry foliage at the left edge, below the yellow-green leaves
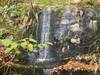
[[5,53],[5,46],[0,43],[0,68],[10,67],[11,62],[15,59],[15,53]]

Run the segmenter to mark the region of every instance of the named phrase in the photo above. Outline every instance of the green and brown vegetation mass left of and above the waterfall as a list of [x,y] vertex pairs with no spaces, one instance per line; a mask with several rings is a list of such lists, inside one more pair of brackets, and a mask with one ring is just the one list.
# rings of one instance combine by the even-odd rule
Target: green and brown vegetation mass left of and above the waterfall
[[[23,64],[27,64],[28,53],[37,53],[40,48],[46,48],[49,45],[52,45],[52,43],[50,42],[41,44],[36,40],[36,26],[38,25],[38,15],[41,13],[41,9],[45,6],[51,6],[54,11],[59,11],[59,9],[62,8],[65,9],[66,6],[69,4],[68,1],[69,0],[34,0],[32,5],[31,0],[0,0],[1,75],[7,75],[7,73],[9,73],[9,75],[15,75],[14,73],[16,71],[12,70],[12,67],[16,69],[16,67],[18,67],[20,63],[20,66],[22,66]],[[85,5],[85,1],[88,0],[82,1],[83,6]],[[90,1],[92,2],[93,0]],[[100,12],[100,10],[97,7],[98,6],[94,2],[94,9],[98,13]],[[31,12],[32,15],[30,15]],[[27,20],[27,18],[31,19],[26,22],[25,20]],[[25,23],[30,23],[31,25],[33,25],[30,29],[33,29],[33,33],[30,33],[28,35],[29,37],[26,37],[27,33],[25,32]],[[100,26],[98,25],[98,38],[100,37],[99,28]],[[94,53],[97,54],[96,56],[99,56],[98,51]],[[91,56],[93,54],[90,53],[89,55]],[[79,57],[81,58],[80,55]],[[11,73],[10,70],[12,70]]]

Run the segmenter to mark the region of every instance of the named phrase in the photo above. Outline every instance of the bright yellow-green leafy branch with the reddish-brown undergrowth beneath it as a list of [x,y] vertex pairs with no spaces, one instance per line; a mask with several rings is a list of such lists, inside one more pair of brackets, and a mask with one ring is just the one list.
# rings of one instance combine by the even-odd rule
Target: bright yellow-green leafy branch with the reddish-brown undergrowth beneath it
[[3,67],[12,67],[14,63],[23,64],[28,62],[28,53],[37,54],[38,50],[47,48],[50,45],[52,45],[50,42],[39,44],[32,38],[21,40],[0,39],[0,70]]

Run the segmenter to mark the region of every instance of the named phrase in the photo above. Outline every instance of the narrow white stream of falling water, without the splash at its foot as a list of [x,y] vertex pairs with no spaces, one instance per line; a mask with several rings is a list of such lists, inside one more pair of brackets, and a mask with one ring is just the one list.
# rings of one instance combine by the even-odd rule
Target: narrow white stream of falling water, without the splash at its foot
[[[50,7],[43,9],[43,22],[42,22],[42,30],[41,30],[41,43],[49,42],[49,36],[50,36],[50,19],[51,19],[51,9]],[[45,60],[48,54],[48,48],[44,48],[40,52],[41,61]]]

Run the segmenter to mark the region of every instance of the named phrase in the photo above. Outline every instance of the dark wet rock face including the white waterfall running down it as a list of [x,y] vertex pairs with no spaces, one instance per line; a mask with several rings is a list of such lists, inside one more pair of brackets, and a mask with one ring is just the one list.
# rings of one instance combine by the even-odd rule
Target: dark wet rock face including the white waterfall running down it
[[39,16],[38,41],[53,43],[39,50],[34,63],[40,68],[52,68],[66,57],[88,52],[88,44],[97,29],[92,9],[87,10],[79,22],[70,11],[66,12],[63,19],[55,14],[50,7],[46,7]]

